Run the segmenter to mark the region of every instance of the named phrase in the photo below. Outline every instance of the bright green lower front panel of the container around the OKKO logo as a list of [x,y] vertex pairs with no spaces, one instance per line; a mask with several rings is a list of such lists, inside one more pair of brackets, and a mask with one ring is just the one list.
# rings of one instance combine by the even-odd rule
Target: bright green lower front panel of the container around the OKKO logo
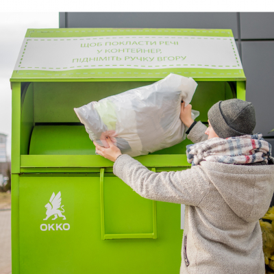
[[[129,187],[116,189],[110,186],[108,190],[114,197],[138,196]],[[66,220],[61,217],[52,220],[53,216],[43,220],[47,216],[45,205],[53,191],[55,194],[61,192],[62,214]],[[115,210],[123,209],[126,218],[136,213],[127,203],[124,207],[116,204],[123,201],[112,199],[111,202]],[[151,205],[151,201],[147,202]],[[136,206],[139,201],[134,198],[132,203]],[[110,210],[109,206],[107,210]],[[112,219],[120,220],[121,216],[115,210],[111,212]],[[109,217],[107,222],[111,221]],[[136,217],[130,221],[138,227],[142,216],[137,214]],[[157,202],[158,239],[155,240],[101,240],[100,219],[99,176],[21,176],[20,273],[179,273],[183,233],[179,229],[180,205]],[[69,230],[56,230],[56,224],[64,223],[69,224]],[[42,231],[41,225],[42,229],[47,225],[47,230]],[[65,227],[67,229],[68,225]]]

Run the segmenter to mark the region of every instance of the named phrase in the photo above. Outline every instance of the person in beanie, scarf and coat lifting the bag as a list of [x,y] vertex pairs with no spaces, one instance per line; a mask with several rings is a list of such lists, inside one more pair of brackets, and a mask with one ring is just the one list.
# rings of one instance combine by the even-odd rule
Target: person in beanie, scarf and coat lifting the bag
[[140,196],[186,205],[180,273],[264,274],[259,219],[271,203],[274,158],[271,145],[253,134],[255,110],[229,99],[208,111],[209,127],[191,119],[182,103],[180,119],[188,127],[191,169],[154,173],[109,148],[96,151],[114,161],[113,172]]

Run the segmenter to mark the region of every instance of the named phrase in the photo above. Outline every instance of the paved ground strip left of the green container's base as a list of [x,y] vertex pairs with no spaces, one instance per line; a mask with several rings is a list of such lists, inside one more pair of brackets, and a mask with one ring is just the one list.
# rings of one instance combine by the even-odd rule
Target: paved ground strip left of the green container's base
[[10,213],[0,209],[0,274],[12,274]]

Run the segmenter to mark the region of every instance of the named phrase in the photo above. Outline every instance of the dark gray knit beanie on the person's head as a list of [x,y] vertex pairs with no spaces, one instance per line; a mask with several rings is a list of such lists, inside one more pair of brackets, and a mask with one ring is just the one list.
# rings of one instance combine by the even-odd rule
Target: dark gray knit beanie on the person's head
[[256,126],[252,103],[240,99],[215,103],[208,111],[208,120],[220,138],[251,135]]

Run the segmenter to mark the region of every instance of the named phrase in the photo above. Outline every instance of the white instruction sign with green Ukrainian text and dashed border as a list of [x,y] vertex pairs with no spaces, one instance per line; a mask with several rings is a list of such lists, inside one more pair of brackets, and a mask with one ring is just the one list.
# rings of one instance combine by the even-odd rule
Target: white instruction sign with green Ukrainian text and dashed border
[[25,38],[17,70],[242,69],[234,38],[97,36]]

